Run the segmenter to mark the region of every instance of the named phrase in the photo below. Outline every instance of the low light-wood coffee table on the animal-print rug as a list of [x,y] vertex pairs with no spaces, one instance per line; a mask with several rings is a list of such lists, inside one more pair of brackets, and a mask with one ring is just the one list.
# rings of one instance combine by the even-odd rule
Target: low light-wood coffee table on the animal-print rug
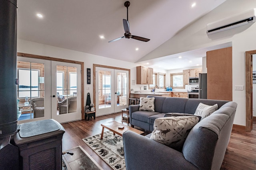
[[[108,123],[103,123],[103,124],[100,124],[102,126],[102,132],[101,132],[101,137],[100,139],[103,139],[103,133],[104,133],[104,128],[112,131],[115,134],[118,134],[120,136],[123,135],[124,132],[126,131],[133,131],[135,133],[138,133],[138,134],[142,134],[144,133],[143,131],[140,131],[138,129],[135,129],[133,127],[129,127],[129,126],[126,126],[122,123],[118,123],[116,121],[110,121]],[[118,126],[124,126],[124,129],[118,129]]]

